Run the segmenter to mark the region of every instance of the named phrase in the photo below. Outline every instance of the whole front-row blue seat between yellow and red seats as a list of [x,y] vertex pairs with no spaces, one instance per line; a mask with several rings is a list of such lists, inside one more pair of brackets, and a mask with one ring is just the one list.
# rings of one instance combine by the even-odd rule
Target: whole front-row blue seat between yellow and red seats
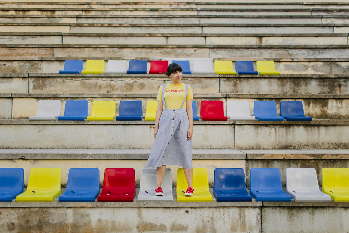
[[59,202],[95,202],[99,194],[98,168],[70,168],[67,189]]

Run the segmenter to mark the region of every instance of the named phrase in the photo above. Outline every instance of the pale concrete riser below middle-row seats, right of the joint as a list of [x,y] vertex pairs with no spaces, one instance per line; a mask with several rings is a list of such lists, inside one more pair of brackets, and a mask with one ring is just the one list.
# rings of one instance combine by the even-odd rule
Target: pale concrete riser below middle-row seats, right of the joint
[[235,148],[339,149],[349,147],[349,125],[235,125]]

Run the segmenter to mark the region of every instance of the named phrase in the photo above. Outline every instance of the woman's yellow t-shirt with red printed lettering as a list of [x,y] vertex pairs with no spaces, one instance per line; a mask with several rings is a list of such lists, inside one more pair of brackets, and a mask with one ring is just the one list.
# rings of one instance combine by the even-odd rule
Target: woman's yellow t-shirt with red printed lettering
[[[182,107],[182,103],[185,96],[185,84],[182,82],[177,85],[173,85],[168,83],[165,87],[165,104],[167,109],[179,109]],[[188,86],[187,100],[193,99],[193,92],[190,85]],[[162,85],[159,88],[159,92],[157,93],[157,100],[162,100]],[[186,108],[186,101],[184,101],[183,108]],[[164,106],[165,109],[165,106]]]

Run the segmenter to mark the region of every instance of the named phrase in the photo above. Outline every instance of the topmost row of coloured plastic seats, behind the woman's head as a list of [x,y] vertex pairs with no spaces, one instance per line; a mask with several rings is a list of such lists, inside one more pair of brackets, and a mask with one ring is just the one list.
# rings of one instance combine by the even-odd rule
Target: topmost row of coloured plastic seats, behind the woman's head
[[[188,60],[173,60],[172,63],[179,64],[184,74],[191,74],[190,63]],[[150,61],[149,74],[164,74],[167,71],[168,61]],[[214,70],[211,69],[211,60],[194,60],[194,74],[280,74],[275,71],[274,61],[257,61],[257,71],[254,71],[253,61],[235,61],[235,70],[233,70],[232,61],[214,61]],[[128,71],[126,71],[125,60],[109,60],[107,70],[104,68],[104,60],[87,60],[86,69],[83,70],[82,60],[66,60],[64,70],[60,74],[146,74],[146,60],[130,60]]]

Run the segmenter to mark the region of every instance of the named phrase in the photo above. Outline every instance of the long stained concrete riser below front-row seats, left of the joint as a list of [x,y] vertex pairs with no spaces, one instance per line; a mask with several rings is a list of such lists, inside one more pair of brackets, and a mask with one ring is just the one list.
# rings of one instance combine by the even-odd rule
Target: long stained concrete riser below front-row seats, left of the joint
[[260,207],[43,207],[1,208],[1,213],[0,227],[7,232],[260,233],[262,227]]

